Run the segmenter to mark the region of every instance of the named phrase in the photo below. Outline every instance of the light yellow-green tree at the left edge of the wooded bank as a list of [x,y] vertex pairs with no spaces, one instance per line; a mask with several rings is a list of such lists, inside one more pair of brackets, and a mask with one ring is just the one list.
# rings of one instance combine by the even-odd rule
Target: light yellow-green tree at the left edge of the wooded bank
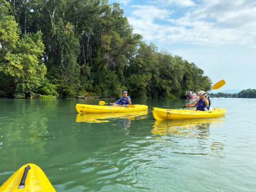
[[[10,4],[3,0],[0,6],[4,7],[4,10],[10,8]],[[1,12],[1,16],[0,73],[2,78],[8,78],[11,81],[9,83],[13,85],[9,88],[1,84],[1,87],[24,97],[24,93],[36,90],[46,74],[46,67],[40,60],[44,52],[42,33],[40,31],[35,35],[28,33],[24,38],[19,38],[19,30],[14,17],[8,15],[7,11]]]

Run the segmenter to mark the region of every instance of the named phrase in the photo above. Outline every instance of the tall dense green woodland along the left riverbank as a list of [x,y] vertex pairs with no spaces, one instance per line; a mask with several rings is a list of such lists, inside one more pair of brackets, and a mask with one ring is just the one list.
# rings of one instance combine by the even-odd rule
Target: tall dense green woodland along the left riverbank
[[106,0],[0,0],[0,95],[182,97],[204,71],[132,33]]

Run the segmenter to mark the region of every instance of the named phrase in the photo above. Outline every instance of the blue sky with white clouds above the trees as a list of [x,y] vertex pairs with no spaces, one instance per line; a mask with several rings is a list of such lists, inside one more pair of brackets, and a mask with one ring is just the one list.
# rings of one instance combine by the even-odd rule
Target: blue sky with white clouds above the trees
[[[255,0],[109,0],[119,3],[133,33],[158,51],[195,63],[227,90],[256,89]],[[239,92],[239,91],[237,91]]]

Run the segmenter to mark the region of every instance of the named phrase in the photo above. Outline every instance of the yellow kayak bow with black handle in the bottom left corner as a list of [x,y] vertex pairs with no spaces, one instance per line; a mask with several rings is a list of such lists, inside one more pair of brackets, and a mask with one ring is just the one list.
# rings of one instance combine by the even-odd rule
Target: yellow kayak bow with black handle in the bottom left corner
[[36,164],[24,164],[0,187],[1,192],[56,192]]

